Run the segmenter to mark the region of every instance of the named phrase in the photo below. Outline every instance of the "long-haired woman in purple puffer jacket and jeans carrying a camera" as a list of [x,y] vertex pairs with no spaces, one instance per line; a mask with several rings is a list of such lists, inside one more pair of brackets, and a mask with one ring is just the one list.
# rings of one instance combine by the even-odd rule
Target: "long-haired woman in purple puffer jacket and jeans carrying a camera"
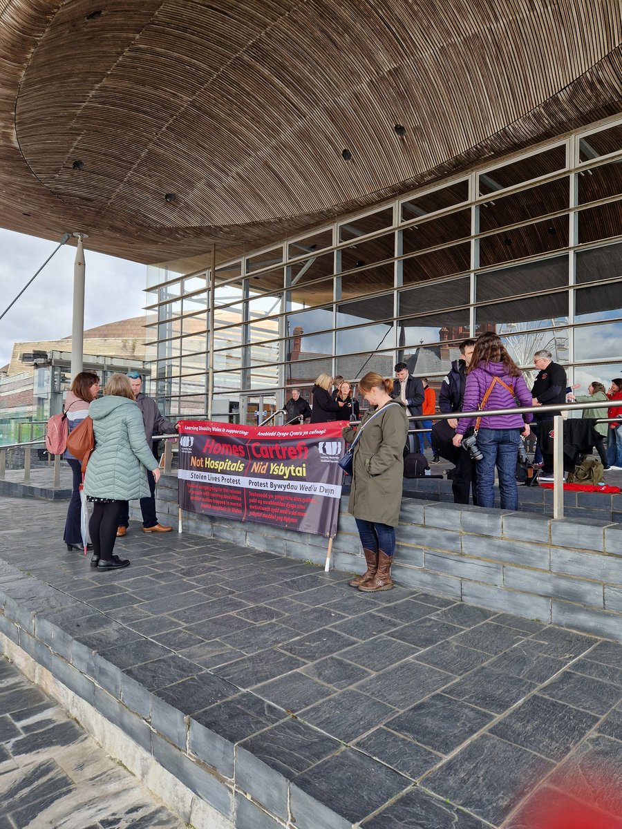
[[[488,392],[489,390],[489,392]],[[512,357],[509,356],[497,334],[487,331],[475,343],[467,369],[463,411],[475,411],[488,398],[482,409],[513,409],[517,405],[532,405],[532,393]],[[494,468],[497,467],[501,509],[518,509],[516,462],[521,435],[526,438],[533,415],[492,414],[482,416],[477,433],[477,445],[484,455],[477,464],[477,492],[479,507],[494,507]],[[454,436],[459,446],[474,418],[460,418]]]

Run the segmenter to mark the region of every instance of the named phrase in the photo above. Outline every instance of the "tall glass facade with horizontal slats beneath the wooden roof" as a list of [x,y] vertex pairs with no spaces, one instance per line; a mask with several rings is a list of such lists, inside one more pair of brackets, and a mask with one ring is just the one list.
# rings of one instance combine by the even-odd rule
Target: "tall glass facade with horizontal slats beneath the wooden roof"
[[[622,373],[622,121],[481,167],[216,269],[148,277],[152,394],[171,416],[256,423],[322,372],[356,382],[406,361],[440,386],[493,330],[532,371]],[[153,379],[152,379],[153,382]]]

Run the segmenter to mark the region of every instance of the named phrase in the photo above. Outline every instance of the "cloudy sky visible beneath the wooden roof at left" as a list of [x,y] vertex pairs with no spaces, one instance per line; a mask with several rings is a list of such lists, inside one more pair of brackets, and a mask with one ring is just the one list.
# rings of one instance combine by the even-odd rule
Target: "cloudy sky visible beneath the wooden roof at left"
[[[0,230],[0,314],[57,245],[58,241]],[[93,253],[88,239],[84,245],[85,329],[143,314],[148,301],[143,293],[145,266]],[[63,245],[0,319],[0,366],[10,360],[14,342],[52,340],[71,333],[74,259],[75,247]]]

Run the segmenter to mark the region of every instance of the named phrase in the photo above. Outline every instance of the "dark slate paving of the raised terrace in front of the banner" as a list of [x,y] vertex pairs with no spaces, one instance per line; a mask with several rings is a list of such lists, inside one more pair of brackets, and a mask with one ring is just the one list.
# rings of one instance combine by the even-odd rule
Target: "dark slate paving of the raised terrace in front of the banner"
[[153,691],[164,719],[173,706],[277,770],[301,827],[330,825],[319,802],[340,826],[522,829],[533,793],[556,802],[569,769],[597,768],[615,783],[603,826],[622,829],[622,645],[135,522],[115,550],[131,566],[99,573],[63,548],[65,512],[0,498],[2,559],[80,602],[43,618]]

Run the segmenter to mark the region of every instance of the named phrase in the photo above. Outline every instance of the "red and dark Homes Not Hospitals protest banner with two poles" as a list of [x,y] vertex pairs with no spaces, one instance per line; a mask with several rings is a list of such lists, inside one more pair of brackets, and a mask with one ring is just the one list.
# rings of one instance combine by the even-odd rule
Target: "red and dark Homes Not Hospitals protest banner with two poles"
[[269,427],[182,420],[179,506],[335,536],[343,425]]

